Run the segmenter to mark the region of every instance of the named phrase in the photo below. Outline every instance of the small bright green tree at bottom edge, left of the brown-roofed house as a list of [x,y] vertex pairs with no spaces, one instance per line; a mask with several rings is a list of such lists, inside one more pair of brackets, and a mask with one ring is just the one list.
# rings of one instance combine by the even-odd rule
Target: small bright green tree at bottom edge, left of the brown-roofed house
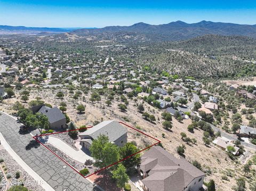
[[126,174],[126,169],[123,164],[119,164],[116,170],[113,170],[113,178],[116,179],[116,185],[118,188],[124,188],[125,184],[129,180],[129,176]]

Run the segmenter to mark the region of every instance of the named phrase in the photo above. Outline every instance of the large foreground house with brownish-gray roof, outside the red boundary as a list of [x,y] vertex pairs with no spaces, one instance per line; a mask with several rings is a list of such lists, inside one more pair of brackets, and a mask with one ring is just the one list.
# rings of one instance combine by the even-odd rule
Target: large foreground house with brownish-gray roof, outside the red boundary
[[183,157],[177,159],[160,146],[151,147],[141,156],[139,171],[147,191],[198,191],[205,177]]

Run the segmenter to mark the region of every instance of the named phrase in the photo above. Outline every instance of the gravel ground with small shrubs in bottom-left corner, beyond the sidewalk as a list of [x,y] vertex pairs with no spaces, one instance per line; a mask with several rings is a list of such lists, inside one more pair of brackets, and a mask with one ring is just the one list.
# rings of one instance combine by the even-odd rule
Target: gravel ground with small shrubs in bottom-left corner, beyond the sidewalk
[[[14,185],[21,185],[21,181],[23,181],[23,184],[25,184],[25,187],[27,187],[29,190],[33,190],[33,191],[44,191],[44,189],[37,184],[37,182],[30,176],[28,175],[28,173],[23,170],[20,165],[9,155],[9,153],[6,150],[1,150],[0,152],[0,159],[4,160],[4,165],[7,168],[7,174],[10,174],[12,178],[9,179],[10,182],[10,186],[14,186]],[[15,173],[19,171],[20,172],[20,178],[19,179],[15,179]],[[0,175],[1,176],[1,175]],[[3,176],[3,175],[2,175]],[[4,179],[3,179],[4,180]],[[5,182],[1,182],[1,186],[2,183]],[[20,181],[19,181],[20,180]],[[1,188],[0,186],[0,190],[5,190],[5,186]]]

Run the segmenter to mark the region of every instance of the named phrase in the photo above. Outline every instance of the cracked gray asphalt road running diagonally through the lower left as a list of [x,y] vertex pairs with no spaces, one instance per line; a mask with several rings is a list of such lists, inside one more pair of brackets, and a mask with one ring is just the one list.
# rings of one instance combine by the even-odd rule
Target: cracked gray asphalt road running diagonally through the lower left
[[30,134],[19,134],[19,123],[9,115],[0,115],[0,131],[12,150],[55,190],[96,190],[88,180],[42,145],[31,144],[34,139]]

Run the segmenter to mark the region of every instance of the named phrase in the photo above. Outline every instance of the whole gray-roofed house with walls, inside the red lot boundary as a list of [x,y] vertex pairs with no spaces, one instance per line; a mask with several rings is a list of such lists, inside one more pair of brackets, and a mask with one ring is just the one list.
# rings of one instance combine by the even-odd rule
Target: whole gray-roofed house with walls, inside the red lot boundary
[[81,145],[87,149],[91,147],[92,141],[100,135],[106,135],[109,142],[123,146],[127,143],[127,130],[115,120],[103,121],[96,126],[82,132],[78,136],[81,138]]

